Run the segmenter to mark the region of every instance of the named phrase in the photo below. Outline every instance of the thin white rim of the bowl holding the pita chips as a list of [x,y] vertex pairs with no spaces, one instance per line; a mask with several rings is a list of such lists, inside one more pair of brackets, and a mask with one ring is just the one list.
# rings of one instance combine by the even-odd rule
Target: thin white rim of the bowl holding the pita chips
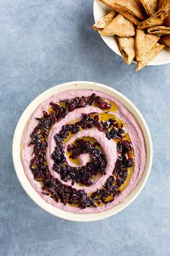
[[[102,4],[102,3],[100,3]],[[93,4],[93,14],[94,14],[94,22],[97,21],[96,19],[96,16],[97,16],[97,12],[96,12],[96,9],[97,9],[97,5],[99,5],[99,0],[94,0],[94,4]],[[107,7],[107,6],[106,6]],[[109,7],[108,7],[109,8]],[[99,31],[98,31],[99,33]],[[99,33],[100,35],[100,33]],[[107,40],[107,35],[100,35],[102,40],[104,40],[104,43],[107,44],[107,46],[109,46],[109,48],[115,52],[115,54],[117,54],[118,56],[120,56],[122,58],[122,54],[120,53],[120,50],[117,51],[116,49],[113,49],[112,46],[109,44],[108,40]],[[137,61],[134,61],[133,60],[133,63],[137,63]],[[160,61],[160,62],[154,62],[154,59],[151,60],[151,62],[149,62],[146,66],[159,66],[159,65],[164,65],[164,64],[169,64],[170,63],[170,58],[169,60],[166,60],[166,61]]]

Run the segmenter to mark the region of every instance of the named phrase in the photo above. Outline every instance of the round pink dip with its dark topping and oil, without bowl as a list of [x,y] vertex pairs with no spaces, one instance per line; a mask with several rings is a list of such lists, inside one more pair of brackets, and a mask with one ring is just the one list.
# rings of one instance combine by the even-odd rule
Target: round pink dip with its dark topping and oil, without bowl
[[22,135],[30,184],[48,203],[71,213],[99,213],[133,191],[146,166],[138,121],[96,90],[68,90],[43,101]]

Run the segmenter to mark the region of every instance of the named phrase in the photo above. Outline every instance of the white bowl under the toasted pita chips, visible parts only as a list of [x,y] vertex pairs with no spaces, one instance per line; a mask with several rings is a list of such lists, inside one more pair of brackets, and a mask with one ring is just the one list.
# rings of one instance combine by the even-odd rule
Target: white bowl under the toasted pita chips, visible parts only
[[[111,9],[107,7],[106,5],[102,4],[99,0],[94,0],[94,20],[95,22],[102,17],[104,17],[105,14],[107,14]],[[115,39],[114,35],[101,35],[104,42],[109,46],[109,48],[112,49],[112,51],[115,51],[116,54],[122,57],[122,54],[120,53],[120,49],[118,47],[117,41]],[[134,61],[135,62],[135,61]],[[151,62],[149,62],[148,65],[154,66],[154,65],[162,65],[170,63],[170,47],[164,48],[161,53],[156,56]]]

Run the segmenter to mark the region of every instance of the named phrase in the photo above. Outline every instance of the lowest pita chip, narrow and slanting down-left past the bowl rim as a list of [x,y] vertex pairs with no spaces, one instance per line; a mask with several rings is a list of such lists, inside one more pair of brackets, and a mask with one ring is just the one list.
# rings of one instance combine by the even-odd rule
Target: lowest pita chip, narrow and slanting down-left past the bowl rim
[[138,61],[136,71],[143,69],[143,67],[145,67],[149,63],[149,61],[155,58],[164,47],[165,47],[164,44],[156,43],[153,46],[153,48],[151,48],[151,50],[148,51],[148,53],[146,53],[143,56],[143,58],[140,59],[140,61]]

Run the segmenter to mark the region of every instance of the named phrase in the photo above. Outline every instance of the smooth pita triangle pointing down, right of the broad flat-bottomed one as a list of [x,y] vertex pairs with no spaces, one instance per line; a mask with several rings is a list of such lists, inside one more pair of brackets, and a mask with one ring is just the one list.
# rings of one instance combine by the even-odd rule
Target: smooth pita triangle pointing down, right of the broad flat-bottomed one
[[148,51],[158,42],[159,36],[158,35],[151,35],[145,33],[143,30],[136,30],[135,36],[135,50],[136,56],[135,59],[139,61],[143,58]]

